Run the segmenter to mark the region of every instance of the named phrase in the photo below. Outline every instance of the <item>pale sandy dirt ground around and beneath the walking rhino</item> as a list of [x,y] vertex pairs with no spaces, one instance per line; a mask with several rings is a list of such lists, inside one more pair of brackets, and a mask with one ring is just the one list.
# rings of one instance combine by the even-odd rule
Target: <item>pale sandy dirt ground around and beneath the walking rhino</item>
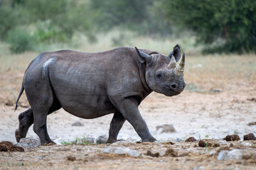
[[[252,67],[243,74],[230,70],[231,67],[218,70],[227,63],[232,65],[237,58],[225,59],[226,65],[220,64],[215,68],[217,71],[209,71],[214,74],[203,72],[198,61],[202,60],[201,64],[207,66],[215,64],[215,57],[195,60],[188,59],[191,64],[186,73],[193,72],[186,75],[187,87],[182,94],[169,98],[152,93],[139,106],[151,134],[158,141],[138,143],[137,133],[126,122],[118,136],[124,142],[110,145],[135,149],[139,157],[105,154],[103,149],[109,146],[106,144],[61,145],[75,137],[96,140],[100,135],[107,135],[112,115],[84,120],[60,110],[48,115],[48,133],[58,145],[25,148],[25,152],[0,152],[0,169],[256,169],[256,140],[242,140],[249,132],[256,135],[256,125],[249,125],[256,122],[255,56],[247,57],[246,62],[235,62],[242,69],[247,65]],[[16,143],[14,132],[18,128],[18,114],[28,109],[23,94],[14,112],[24,68],[6,69],[0,74],[0,142]],[[244,74],[247,77],[241,78]],[[77,121],[82,126],[72,126]],[[166,124],[175,130],[162,132],[159,126]],[[233,134],[239,135],[241,140],[224,142],[223,137]],[[32,128],[27,137],[37,137]],[[184,142],[188,137],[211,139],[220,146],[198,147],[198,141]],[[168,148],[174,149],[177,155],[164,156]],[[217,157],[222,149],[241,149],[242,159],[220,161]],[[160,156],[147,156],[148,150],[159,152]],[[69,156],[75,160],[68,160]]]

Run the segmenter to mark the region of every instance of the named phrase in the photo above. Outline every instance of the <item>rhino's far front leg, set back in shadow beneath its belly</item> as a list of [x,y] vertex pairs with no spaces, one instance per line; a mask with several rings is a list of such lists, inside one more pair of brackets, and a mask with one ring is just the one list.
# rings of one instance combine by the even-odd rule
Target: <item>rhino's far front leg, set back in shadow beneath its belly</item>
[[114,113],[114,116],[112,118],[112,121],[110,123],[110,135],[107,140],[107,143],[114,143],[117,142],[117,135],[122,128],[122,125],[124,125],[125,118],[122,115],[122,113]]

